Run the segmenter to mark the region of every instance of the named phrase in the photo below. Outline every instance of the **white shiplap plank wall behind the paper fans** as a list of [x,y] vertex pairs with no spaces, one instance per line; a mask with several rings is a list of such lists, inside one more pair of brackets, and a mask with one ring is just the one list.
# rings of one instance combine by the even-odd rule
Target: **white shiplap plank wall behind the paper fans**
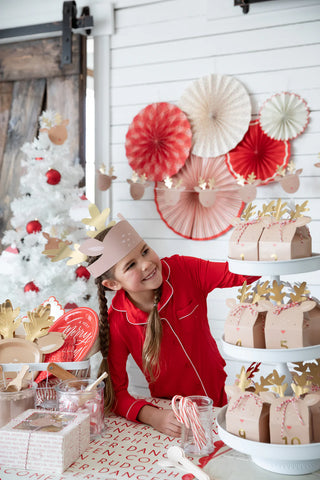
[[[162,222],[148,188],[134,201],[127,178],[132,170],[125,156],[128,125],[149,103],[176,103],[184,89],[201,76],[235,76],[247,88],[255,118],[262,102],[283,90],[301,95],[311,110],[303,135],[294,140],[292,160],[303,168],[294,195],[309,199],[314,251],[320,252],[320,2],[277,0],[253,4],[247,15],[233,0],[115,1],[115,33],[111,37],[111,163],[117,180],[111,192],[113,214],[122,212],[160,256],[180,253],[223,261],[230,232],[196,242],[174,234]],[[110,192],[102,196],[110,205]],[[290,197],[279,184],[258,188],[257,201]],[[292,277],[288,280],[293,280]],[[319,273],[297,275],[320,297]],[[219,341],[227,315],[225,299],[236,289],[209,296],[209,320]],[[228,359],[232,377],[235,362]],[[137,380],[139,383],[140,381]]]

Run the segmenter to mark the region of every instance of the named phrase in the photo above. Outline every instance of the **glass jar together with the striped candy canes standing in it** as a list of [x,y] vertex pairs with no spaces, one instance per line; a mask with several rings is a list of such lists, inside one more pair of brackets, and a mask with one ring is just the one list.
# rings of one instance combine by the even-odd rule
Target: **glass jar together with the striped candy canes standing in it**
[[[177,403],[179,401],[179,403]],[[172,399],[172,410],[182,423],[181,443],[188,455],[209,455],[213,452],[213,402],[202,395]]]

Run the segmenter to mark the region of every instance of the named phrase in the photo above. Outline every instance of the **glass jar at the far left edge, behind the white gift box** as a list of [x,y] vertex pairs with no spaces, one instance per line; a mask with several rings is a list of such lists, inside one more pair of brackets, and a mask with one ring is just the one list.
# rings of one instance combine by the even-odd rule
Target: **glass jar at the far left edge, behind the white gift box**
[[0,427],[3,427],[20,413],[35,408],[37,384],[30,382],[27,388],[18,392],[6,392],[6,386],[0,382]]

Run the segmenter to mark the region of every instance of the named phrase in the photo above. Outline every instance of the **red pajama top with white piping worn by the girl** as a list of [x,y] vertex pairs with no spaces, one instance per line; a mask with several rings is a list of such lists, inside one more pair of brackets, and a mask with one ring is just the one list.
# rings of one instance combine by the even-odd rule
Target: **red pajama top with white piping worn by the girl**
[[[162,295],[158,305],[162,321],[160,374],[152,383],[153,397],[206,395],[215,406],[226,403],[225,361],[213,339],[207,317],[207,295],[215,288],[251,283],[258,277],[229,272],[227,263],[174,255],[162,263]],[[116,395],[115,412],[136,421],[148,402],[128,393],[126,363],[131,353],[142,367],[142,347],[148,314],[135,307],[120,290],[109,309],[108,362]]]

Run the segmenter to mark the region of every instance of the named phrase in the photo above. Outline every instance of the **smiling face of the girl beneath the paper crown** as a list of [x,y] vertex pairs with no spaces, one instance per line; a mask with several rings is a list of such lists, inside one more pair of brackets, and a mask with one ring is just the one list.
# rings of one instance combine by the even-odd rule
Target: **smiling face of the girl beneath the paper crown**
[[102,284],[111,290],[123,288],[131,297],[153,291],[162,283],[160,258],[144,241],[141,241],[114,267],[114,278]]

